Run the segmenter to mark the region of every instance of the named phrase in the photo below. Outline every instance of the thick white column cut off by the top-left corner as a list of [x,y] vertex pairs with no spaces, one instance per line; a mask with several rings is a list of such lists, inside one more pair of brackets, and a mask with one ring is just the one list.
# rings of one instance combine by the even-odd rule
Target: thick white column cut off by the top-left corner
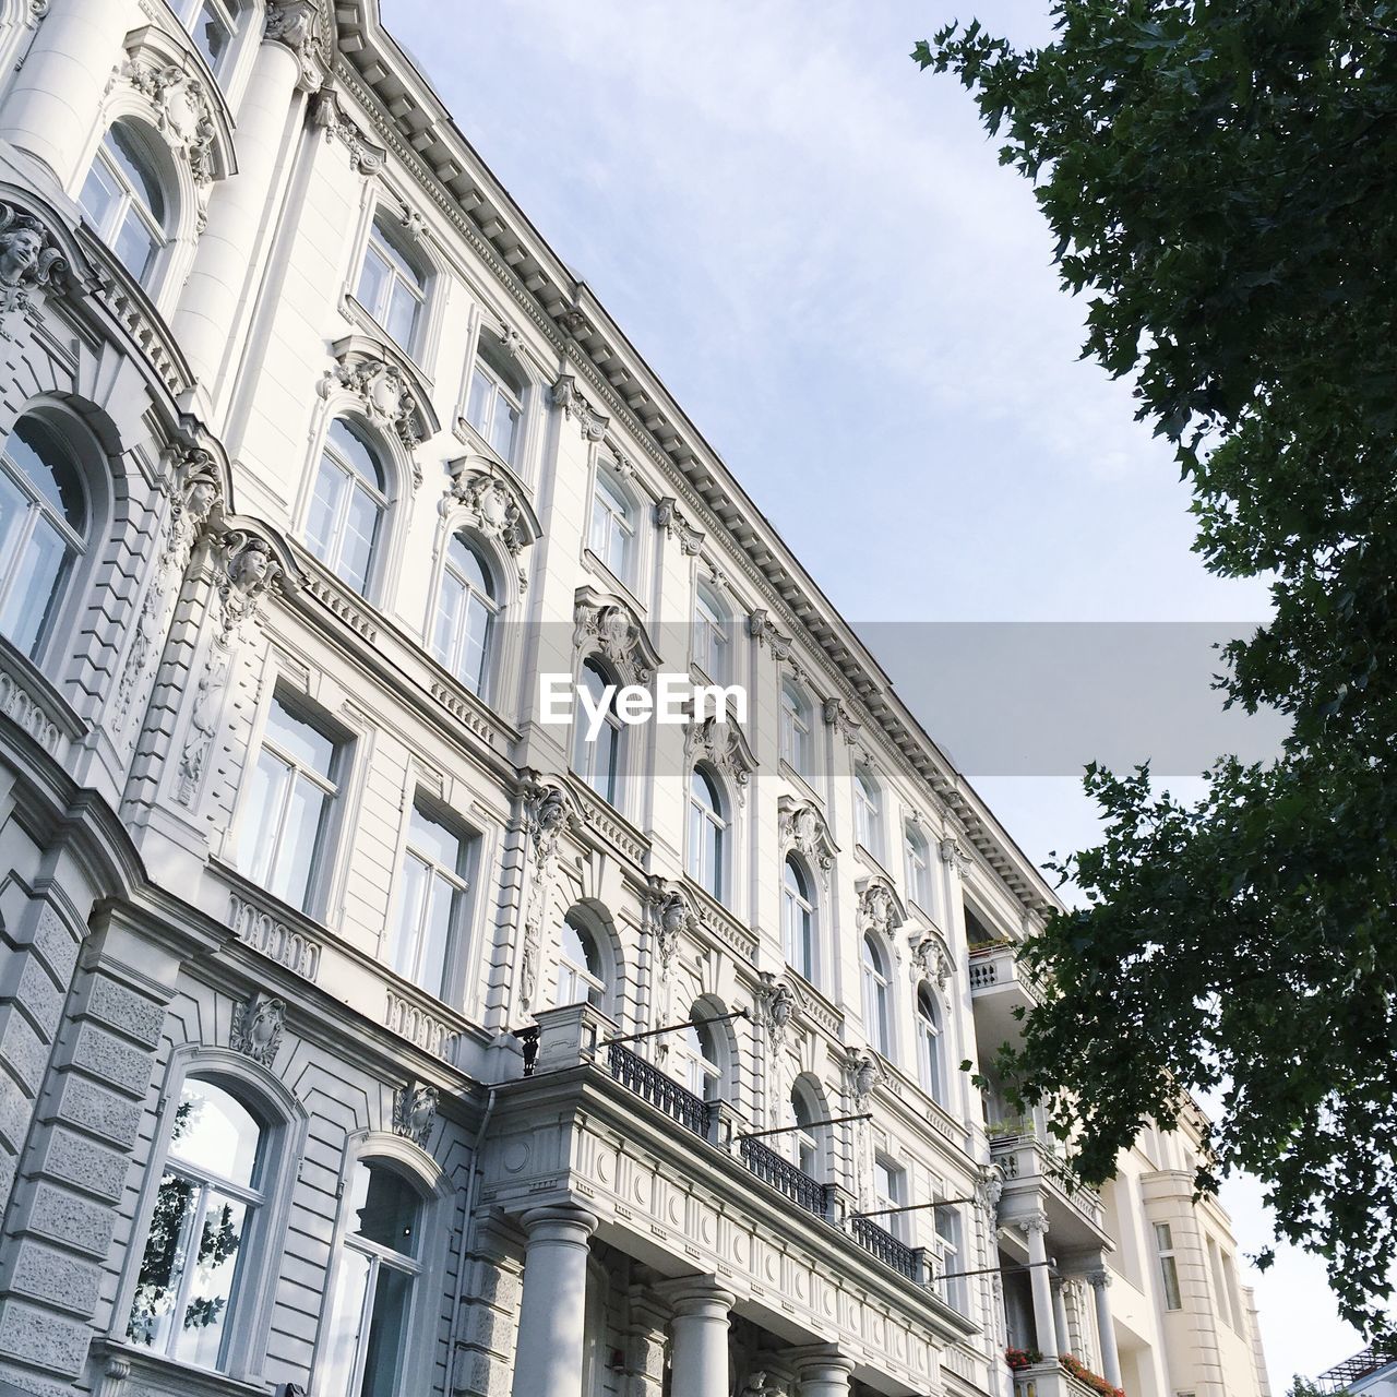
[[127,29],[144,24],[127,0],[66,0],[39,24],[0,109],[0,140],[42,161],[68,189],[78,176],[108,78]]

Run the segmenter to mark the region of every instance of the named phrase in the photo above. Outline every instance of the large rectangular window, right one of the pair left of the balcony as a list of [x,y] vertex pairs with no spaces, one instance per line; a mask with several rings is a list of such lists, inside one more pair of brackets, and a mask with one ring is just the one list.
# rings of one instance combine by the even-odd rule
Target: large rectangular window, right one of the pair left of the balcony
[[437,997],[444,997],[451,953],[465,918],[469,852],[465,835],[414,803],[387,960],[400,975]]

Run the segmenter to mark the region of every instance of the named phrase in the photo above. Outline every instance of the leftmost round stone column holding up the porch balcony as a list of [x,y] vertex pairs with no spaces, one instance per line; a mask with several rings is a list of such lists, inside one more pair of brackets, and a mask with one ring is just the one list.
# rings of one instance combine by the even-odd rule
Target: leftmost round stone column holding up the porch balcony
[[587,1255],[597,1218],[563,1203],[532,1208],[521,1222],[528,1245],[514,1397],[583,1397]]

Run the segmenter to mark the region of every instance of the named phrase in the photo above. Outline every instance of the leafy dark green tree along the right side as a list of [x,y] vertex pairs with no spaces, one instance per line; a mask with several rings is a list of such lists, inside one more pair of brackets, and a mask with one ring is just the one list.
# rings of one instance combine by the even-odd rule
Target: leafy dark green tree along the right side
[[974,22],[912,56],[1034,182],[1084,356],[1175,444],[1206,564],[1274,580],[1220,687],[1291,736],[1274,763],[1220,759],[1192,805],[1088,768],[1102,841],[1059,869],[1084,905],[1025,953],[1052,988],[1000,1066],[1095,1180],[1179,1088],[1221,1090],[1200,1187],[1257,1175],[1376,1330],[1397,1256],[1397,3],[1052,14],[1041,49]]

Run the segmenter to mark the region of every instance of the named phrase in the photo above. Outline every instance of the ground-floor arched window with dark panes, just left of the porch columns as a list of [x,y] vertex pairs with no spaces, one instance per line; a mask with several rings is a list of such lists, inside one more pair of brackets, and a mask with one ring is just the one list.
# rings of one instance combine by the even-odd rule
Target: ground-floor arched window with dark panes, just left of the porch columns
[[353,1165],[346,1193],[349,1225],[314,1390],[326,1397],[395,1397],[416,1330],[422,1197],[401,1173],[373,1160]]

